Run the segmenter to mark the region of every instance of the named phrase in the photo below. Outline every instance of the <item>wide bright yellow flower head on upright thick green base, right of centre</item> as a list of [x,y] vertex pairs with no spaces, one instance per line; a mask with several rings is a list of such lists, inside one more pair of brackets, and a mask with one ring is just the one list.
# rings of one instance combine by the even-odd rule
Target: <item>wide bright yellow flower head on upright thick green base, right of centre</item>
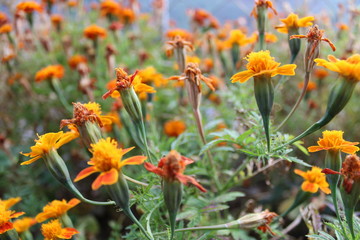
[[251,52],[245,60],[248,61],[246,65],[247,70],[239,72],[231,77],[231,82],[244,83],[251,77],[259,75],[268,75],[274,77],[280,75],[295,75],[295,64],[287,64],[279,67],[280,63],[275,62],[274,58],[270,56],[270,51]]

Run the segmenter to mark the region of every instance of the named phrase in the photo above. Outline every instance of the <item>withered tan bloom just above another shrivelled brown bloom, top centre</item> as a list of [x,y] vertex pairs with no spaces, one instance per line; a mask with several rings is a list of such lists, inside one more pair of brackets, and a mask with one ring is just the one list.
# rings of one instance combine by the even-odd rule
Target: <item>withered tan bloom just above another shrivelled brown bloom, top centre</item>
[[179,65],[180,72],[185,71],[186,52],[191,52],[193,50],[194,47],[192,43],[185,41],[179,35],[177,35],[174,40],[167,41],[165,45],[165,51],[168,57],[172,56],[175,51],[176,62]]

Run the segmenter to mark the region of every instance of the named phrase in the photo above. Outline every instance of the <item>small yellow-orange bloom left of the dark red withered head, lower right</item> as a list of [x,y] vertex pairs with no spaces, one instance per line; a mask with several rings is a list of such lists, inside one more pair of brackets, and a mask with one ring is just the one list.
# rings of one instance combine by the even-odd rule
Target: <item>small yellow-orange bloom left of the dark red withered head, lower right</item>
[[304,178],[304,182],[301,185],[301,189],[304,192],[316,193],[319,188],[326,194],[331,193],[329,184],[326,181],[326,176],[321,172],[321,168],[312,167],[310,171],[303,172],[299,169],[295,169],[294,172]]

